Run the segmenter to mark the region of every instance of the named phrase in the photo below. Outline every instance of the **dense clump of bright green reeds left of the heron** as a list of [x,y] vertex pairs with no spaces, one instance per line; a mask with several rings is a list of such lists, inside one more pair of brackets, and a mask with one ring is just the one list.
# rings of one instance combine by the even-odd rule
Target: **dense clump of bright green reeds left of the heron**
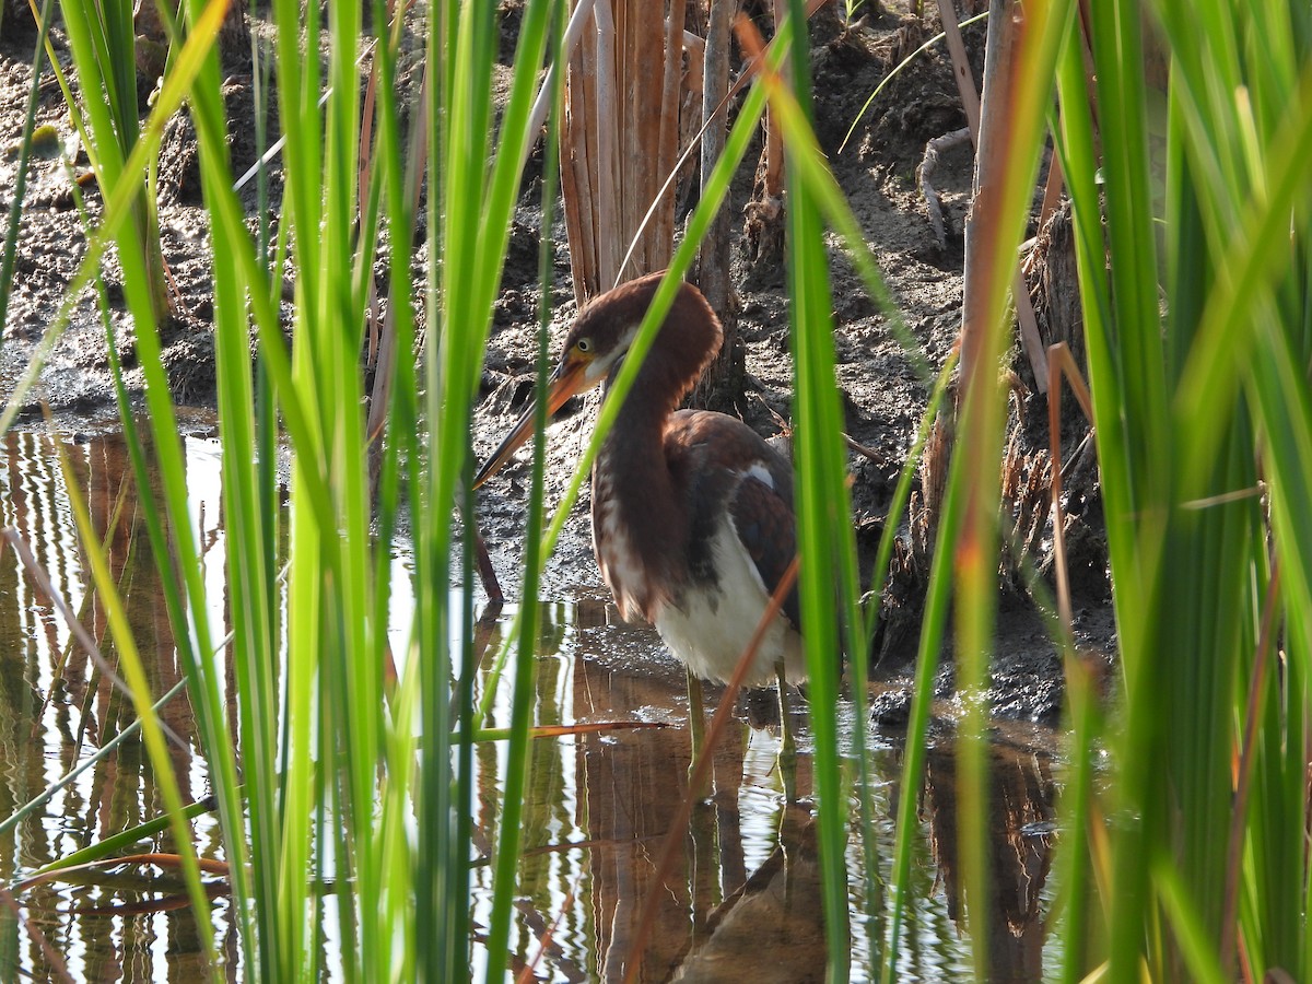
[[[125,13],[121,7],[112,12],[115,17]],[[459,563],[462,552],[468,555],[468,538],[453,526],[451,516],[453,508],[467,501],[461,489],[467,489],[471,464],[470,415],[520,161],[533,138],[523,121],[558,8],[538,1],[526,10],[495,154],[489,154],[495,8],[447,4],[432,10],[426,21],[430,102],[415,105],[411,114],[416,125],[433,127],[437,148],[426,223],[434,264],[426,369],[421,371],[409,285],[415,215],[403,194],[404,108],[394,98],[400,30],[379,31],[383,94],[370,155],[373,184],[359,201],[361,5],[332,4],[327,25],[319,22],[318,5],[273,7],[278,109],[287,136],[278,231],[290,244],[295,295],[289,349],[279,320],[281,270],[270,270],[232,190],[214,51],[223,4],[186,7],[188,50],[176,60],[171,81],[188,94],[210,215],[232,592],[234,640],[227,653],[215,652],[218,636],[206,622],[199,552],[186,522],[177,428],[156,335],[157,308],[147,290],[152,281],[133,261],[143,248],[159,245],[157,235],[131,218],[130,203],[144,189],[144,168],[157,147],[154,121],[161,122],[165,109],[152,118],[148,139],[135,156],[125,164],[126,155],[119,152],[117,171],[102,180],[105,220],[83,277],[94,270],[100,244],[117,234],[147,379],[154,461],[146,462],[142,445],[130,437],[140,479],[147,467],[163,479],[163,496],[150,504],[147,520],[155,554],[169,568],[171,619],[220,804],[234,911],[252,979],[318,976],[324,970],[318,963],[325,951],[325,925],[337,926],[331,951],[340,954],[340,971],[349,979],[451,980],[467,974],[470,747],[478,722],[470,698],[472,648],[453,649],[450,642],[453,618],[463,619],[462,638],[472,639],[468,602],[454,613],[449,602],[453,563]],[[66,9],[73,20],[88,13],[91,8],[81,5]],[[373,18],[375,25],[388,24],[383,4],[375,5]],[[307,50],[306,38],[320,37],[328,38],[324,51]],[[134,76],[130,46],[118,41],[115,50],[126,62],[79,54],[84,87],[98,77],[98,66],[126,64]],[[135,77],[130,81],[135,98]],[[324,88],[331,94],[320,109]],[[177,100],[161,104],[172,109]],[[134,104],[134,131],[135,121]],[[96,148],[102,154],[108,133],[96,131]],[[458,136],[450,138],[451,133]],[[482,139],[471,140],[471,134]],[[390,245],[387,297],[398,337],[399,384],[392,387],[375,514],[359,354],[380,231]],[[282,534],[277,512],[269,508],[277,501],[269,464],[279,445],[255,413],[252,332],[258,340],[258,377],[269,383],[264,395],[276,403],[291,459],[286,600],[274,567]],[[420,378],[425,379],[422,411],[416,400]],[[123,409],[130,424],[126,404]],[[142,488],[151,484],[139,480]],[[384,681],[391,657],[386,634],[391,567],[388,544],[375,542],[371,523],[377,520],[380,530],[396,529],[401,489],[409,493],[419,604],[413,643],[395,653],[399,682],[390,690]],[[467,563],[464,568],[464,584],[471,584]],[[105,579],[97,576],[97,586],[106,598],[117,597]],[[125,632],[126,626],[115,623],[114,631]],[[239,694],[235,728],[228,726],[223,703],[228,660]],[[449,710],[453,678],[463,695],[454,718]],[[146,699],[144,687],[139,698]],[[152,720],[150,712],[146,719]],[[457,745],[449,739],[453,727],[462,735]],[[420,735],[428,736],[421,748]],[[518,735],[512,747],[512,761],[517,756],[522,762],[525,736]],[[156,761],[156,768],[168,774],[167,760]],[[178,817],[180,807],[174,808]],[[178,834],[181,845],[190,842],[184,827]],[[332,892],[321,890],[328,884],[335,886]],[[195,892],[194,897],[201,908],[203,896]],[[501,924],[512,901],[513,895],[504,893],[497,908]],[[215,967],[215,974],[222,971]]]

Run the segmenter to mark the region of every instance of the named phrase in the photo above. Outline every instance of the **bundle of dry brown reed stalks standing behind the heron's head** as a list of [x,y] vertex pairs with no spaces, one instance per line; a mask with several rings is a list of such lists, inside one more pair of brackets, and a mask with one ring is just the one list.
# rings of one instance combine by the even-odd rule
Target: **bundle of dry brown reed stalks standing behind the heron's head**
[[[808,0],[807,16],[825,0]],[[575,298],[581,304],[625,279],[663,269],[673,251],[680,184],[670,180],[701,139],[705,181],[724,150],[726,109],[750,79],[729,85],[729,26],[737,0],[576,0],[586,26],[569,58],[560,190]],[[782,3],[777,4],[782,16]],[[571,17],[573,24],[575,17]],[[706,37],[694,33],[705,24]],[[656,84],[656,80],[660,84]],[[698,135],[699,134],[699,135]],[[773,142],[768,192],[782,207],[783,152]],[[652,205],[655,202],[655,206]],[[779,213],[782,222],[782,213]],[[729,285],[731,215],[715,219],[694,279],[724,325],[720,356],[697,390],[714,405],[737,388],[741,349]]]

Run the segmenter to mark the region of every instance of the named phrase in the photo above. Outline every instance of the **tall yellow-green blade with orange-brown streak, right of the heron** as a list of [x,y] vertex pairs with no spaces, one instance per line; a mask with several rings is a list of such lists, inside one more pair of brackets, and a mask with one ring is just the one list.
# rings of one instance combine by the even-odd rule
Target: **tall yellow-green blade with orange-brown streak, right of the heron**
[[[1002,8],[998,8],[1002,9]],[[956,450],[949,471],[943,518],[930,572],[929,598],[921,632],[917,690],[908,728],[909,752],[904,769],[904,789],[916,789],[922,766],[920,745],[928,724],[928,687],[943,631],[947,611],[949,555],[955,573],[956,685],[966,695],[963,722],[964,743],[958,744],[962,762],[960,832],[964,850],[964,874],[968,897],[985,897],[983,838],[987,830],[980,817],[988,815],[984,802],[987,762],[981,744],[984,715],[980,706],[987,684],[988,653],[992,649],[994,604],[997,593],[997,509],[998,463],[1002,445],[1005,398],[997,382],[997,362],[1004,346],[1004,321],[1008,286],[1014,277],[1014,244],[1029,213],[1029,201],[1038,155],[1043,140],[1046,96],[1060,41],[1071,24],[1069,4],[1042,4],[1025,10],[1022,22],[1012,25],[1013,47],[1000,47],[994,54],[991,37],[991,63],[1005,52],[1005,62],[987,67],[985,75],[1001,92],[992,93],[992,106],[1001,113],[991,115],[988,85],[981,126],[979,173],[985,161],[992,178],[980,178],[980,188],[967,231],[970,277],[963,318],[963,398],[958,420]],[[1009,16],[1004,13],[1002,16]],[[1005,25],[991,25],[992,31]],[[1004,34],[1004,38],[1008,35]],[[1001,100],[1001,101],[998,101]],[[1005,108],[1005,109],[1004,109]],[[895,897],[892,942],[884,964],[884,979],[896,975],[896,951],[900,939],[903,908],[907,900],[911,838],[914,812],[904,803],[899,816],[895,848]],[[971,907],[970,924],[976,974],[987,975],[987,920],[980,905]]]

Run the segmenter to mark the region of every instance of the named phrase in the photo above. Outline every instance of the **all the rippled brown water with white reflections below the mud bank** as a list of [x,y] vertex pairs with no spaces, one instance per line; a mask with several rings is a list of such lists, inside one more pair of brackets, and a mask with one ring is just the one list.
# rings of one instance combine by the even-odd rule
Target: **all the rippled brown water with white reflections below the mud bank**
[[[92,505],[97,533],[129,600],[151,686],[157,695],[181,676],[159,580],[140,534],[130,467],[121,438],[66,443],[73,480]],[[223,530],[219,510],[218,447],[186,438],[192,521],[207,550],[210,613],[224,622]],[[0,442],[0,527],[14,531],[79,614],[106,659],[114,653],[104,613],[88,590],[88,575],[73,535],[68,489],[51,438],[5,434]],[[117,517],[117,522],[114,521]],[[404,564],[404,556],[398,562]],[[403,567],[399,569],[404,569]],[[394,614],[404,631],[405,609]],[[509,615],[485,623],[484,665],[508,630]],[[523,813],[518,920],[512,970],[533,980],[621,980],[636,959],[642,981],[810,981],[824,979],[824,926],[816,879],[816,842],[806,802],[785,803],[775,769],[771,729],[739,719],[716,752],[711,795],[694,811],[674,874],[657,880],[657,857],[687,789],[689,739],[681,668],[651,630],[619,623],[597,601],[547,605],[535,663],[538,724],[647,722],[668,727],[607,731],[539,740],[531,748]],[[231,693],[231,684],[230,684]],[[509,720],[509,695],[499,694],[491,726]],[[749,705],[745,701],[744,705]],[[773,701],[764,702],[773,705]],[[54,600],[24,569],[14,550],[0,550],[0,821],[112,740],[133,722],[130,702],[84,649],[72,643]],[[185,697],[163,714],[177,741],[173,765],[184,796],[207,792],[203,761]],[[802,719],[798,790],[811,790],[811,756]],[[1044,943],[1051,908],[1046,882],[1051,861],[1047,830],[1054,778],[1034,736],[1000,741],[993,749],[989,979],[1039,980],[1055,943]],[[489,854],[499,834],[505,748],[488,743],[476,752],[479,787],[475,853]],[[896,739],[874,754],[878,871],[869,882],[853,804],[849,846],[854,977],[882,959],[888,930],[883,914],[890,892],[901,753]],[[955,845],[955,782],[950,739],[930,753],[925,786],[917,791],[924,838],[913,867],[914,908],[899,951],[899,980],[939,981],[971,976],[962,916]],[[42,865],[163,812],[148,758],[134,737],[58,792],[41,811],[0,833],[0,886],[13,886]],[[222,855],[213,816],[195,820],[202,855]],[[169,850],[168,837],[140,850]],[[474,967],[482,963],[492,871],[474,871]],[[203,914],[240,977],[230,900],[215,886]],[[632,943],[640,913],[652,896],[656,914],[638,958]],[[0,896],[0,903],[4,899]],[[20,974],[51,976],[56,962],[75,980],[193,980],[195,914],[178,879],[168,872],[110,869],[46,883],[18,896],[22,924],[0,904],[0,980]],[[874,908],[875,916],[866,909]],[[38,942],[43,938],[49,950]],[[56,956],[51,956],[55,954]],[[331,956],[325,959],[331,967]],[[531,967],[531,971],[530,971]],[[331,977],[331,971],[325,972]]]

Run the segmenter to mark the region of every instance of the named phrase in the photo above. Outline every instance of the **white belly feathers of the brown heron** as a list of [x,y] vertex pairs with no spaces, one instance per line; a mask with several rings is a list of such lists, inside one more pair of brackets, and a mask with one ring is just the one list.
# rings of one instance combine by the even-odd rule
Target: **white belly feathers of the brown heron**
[[[770,598],[756,564],[727,522],[716,530],[712,550],[718,592],[689,590],[682,607],[665,602],[656,615],[656,631],[698,677],[727,681]],[[782,611],[770,621],[743,682],[773,682],[781,659],[790,681],[806,678],[802,638]]]

